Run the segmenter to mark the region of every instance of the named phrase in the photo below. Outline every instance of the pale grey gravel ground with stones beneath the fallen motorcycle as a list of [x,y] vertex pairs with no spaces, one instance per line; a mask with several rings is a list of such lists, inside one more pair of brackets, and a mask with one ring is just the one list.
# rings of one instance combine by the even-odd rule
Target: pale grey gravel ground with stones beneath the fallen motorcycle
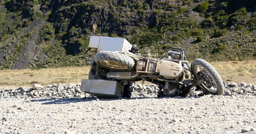
[[256,133],[256,85],[226,85],[220,96],[172,98],[135,85],[130,99],[83,99],[79,84],[0,89],[0,134]]

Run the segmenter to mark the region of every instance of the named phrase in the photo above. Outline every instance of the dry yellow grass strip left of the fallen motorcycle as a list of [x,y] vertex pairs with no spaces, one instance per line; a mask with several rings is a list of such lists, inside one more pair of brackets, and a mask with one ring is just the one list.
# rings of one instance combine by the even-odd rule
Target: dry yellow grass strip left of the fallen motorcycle
[[34,83],[42,86],[48,84],[77,84],[81,79],[88,78],[90,66],[46,68],[39,70],[0,70],[0,88],[32,87]]

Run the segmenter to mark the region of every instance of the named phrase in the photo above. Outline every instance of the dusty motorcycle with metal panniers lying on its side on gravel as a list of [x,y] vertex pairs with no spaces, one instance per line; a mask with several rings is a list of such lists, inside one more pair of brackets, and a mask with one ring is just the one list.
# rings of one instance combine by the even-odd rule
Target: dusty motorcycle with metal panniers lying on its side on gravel
[[81,90],[94,96],[130,98],[137,81],[157,84],[159,97],[224,93],[225,83],[216,69],[203,59],[189,64],[181,48],[167,47],[160,58],[153,58],[157,54],[151,55],[150,49],[141,55],[123,38],[97,36],[90,38],[89,47],[97,53]]

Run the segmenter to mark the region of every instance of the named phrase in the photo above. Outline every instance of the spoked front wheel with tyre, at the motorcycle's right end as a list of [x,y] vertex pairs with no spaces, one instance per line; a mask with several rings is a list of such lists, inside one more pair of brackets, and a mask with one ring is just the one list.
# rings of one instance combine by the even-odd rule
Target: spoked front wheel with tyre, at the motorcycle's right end
[[204,83],[199,86],[213,95],[224,93],[224,82],[214,67],[203,59],[195,59],[191,63],[191,72],[196,79],[202,78]]

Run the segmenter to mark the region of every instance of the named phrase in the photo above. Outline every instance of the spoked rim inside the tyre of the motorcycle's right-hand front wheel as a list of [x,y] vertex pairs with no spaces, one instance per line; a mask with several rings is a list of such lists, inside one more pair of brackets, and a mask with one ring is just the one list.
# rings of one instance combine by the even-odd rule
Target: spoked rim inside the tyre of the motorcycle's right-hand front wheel
[[206,69],[204,69],[202,66],[196,65],[194,67],[194,70],[195,70],[195,74],[200,74],[200,75],[196,75],[196,77],[199,77],[199,76],[204,77],[203,79],[205,82],[200,84],[203,89],[208,90],[212,93],[216,93],[218,91],[217,84],[214,78]]

